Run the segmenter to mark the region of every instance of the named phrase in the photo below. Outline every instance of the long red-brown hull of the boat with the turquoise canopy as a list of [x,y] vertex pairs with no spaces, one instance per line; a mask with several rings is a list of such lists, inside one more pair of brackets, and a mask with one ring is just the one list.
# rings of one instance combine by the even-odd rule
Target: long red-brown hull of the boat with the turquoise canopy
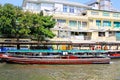
[[109,64],[110,58],[36,59],[9,57],[6,62],[18,64]]

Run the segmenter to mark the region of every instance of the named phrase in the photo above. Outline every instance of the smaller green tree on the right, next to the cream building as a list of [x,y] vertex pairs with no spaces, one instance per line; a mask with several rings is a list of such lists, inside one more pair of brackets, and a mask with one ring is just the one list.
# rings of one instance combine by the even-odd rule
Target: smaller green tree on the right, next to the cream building
[[40,14],[33,14],[32,18],[33,26],[31,27],[31,34],[38,42],[55,36],[55,34],[50,30],[56,23],[52,20],[52,16],[44,16],[43,12],[41,12]]

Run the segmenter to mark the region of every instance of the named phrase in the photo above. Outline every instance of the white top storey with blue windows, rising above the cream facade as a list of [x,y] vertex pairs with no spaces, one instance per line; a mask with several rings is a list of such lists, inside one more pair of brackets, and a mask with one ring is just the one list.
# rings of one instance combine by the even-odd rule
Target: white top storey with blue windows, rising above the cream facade
[[75,13],[79,14],[83,9],[90,8],[87,5],[77,2],[69,2],[66,0],[24,0],[23,9],[40,12],[43,11],[55,11],[62,13]]

